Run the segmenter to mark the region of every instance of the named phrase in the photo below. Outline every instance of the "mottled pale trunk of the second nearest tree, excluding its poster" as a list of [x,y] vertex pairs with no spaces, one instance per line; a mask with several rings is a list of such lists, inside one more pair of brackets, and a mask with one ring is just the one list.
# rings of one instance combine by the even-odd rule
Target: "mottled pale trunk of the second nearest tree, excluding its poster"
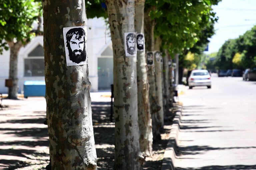
[[114,54],[115,169],[139,170],[137,56],[125,54],[124,33],[135,32],[135,0],[106,1]]

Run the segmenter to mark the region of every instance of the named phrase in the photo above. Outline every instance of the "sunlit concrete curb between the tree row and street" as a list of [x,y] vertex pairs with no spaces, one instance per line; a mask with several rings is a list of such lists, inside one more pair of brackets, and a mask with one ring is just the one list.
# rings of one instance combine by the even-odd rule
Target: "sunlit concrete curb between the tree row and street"
[[177,143],[182,119],[182,106],[179,105],[174,112],[175,117],[173,119],[172,130],[169,134],[169,141],[164,152],[161,170],[175,170],[174,162],[176,159],[176,153],[178,152]]

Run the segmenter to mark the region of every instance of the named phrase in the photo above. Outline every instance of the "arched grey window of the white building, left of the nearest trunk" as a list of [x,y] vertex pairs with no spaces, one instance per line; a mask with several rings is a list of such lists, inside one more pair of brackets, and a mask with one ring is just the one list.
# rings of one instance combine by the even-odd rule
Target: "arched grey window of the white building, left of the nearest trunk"
[[24,76],[44,76],[44,48],[37,45],[24,60]]

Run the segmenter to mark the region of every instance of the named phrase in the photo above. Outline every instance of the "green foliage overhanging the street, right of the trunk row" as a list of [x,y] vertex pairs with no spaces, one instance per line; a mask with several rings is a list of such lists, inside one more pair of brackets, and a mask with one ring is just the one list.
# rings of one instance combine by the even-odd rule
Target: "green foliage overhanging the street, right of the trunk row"
[[[182,53],[193,47],[208,43],[217,21],[211,6],[220,0],[162,0],[146,1],[146,7],[154,6],[151,19],[156,20],[155,35],[162,39],[162,46],[170,53]],[[145,7],[145,8],[146,8]]]

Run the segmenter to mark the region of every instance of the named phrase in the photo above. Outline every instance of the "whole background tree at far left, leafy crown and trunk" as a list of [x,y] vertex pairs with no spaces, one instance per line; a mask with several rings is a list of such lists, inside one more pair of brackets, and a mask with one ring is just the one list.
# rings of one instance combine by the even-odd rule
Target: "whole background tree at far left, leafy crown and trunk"
[[35,0],[0,1],[0,53],[10,48],[8,98],[17,99],[18,95],[18,52],[36,35],[42,35],[40,26],[33,30],[33,23],[41,21],[41,2]]

